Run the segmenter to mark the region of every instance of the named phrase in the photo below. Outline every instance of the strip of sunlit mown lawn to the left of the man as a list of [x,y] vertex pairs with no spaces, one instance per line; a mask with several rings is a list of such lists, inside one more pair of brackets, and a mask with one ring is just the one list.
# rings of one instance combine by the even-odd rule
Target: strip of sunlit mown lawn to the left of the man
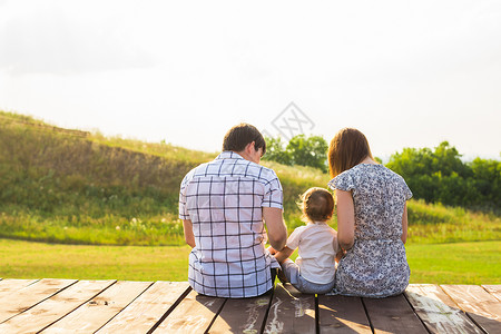
[[187,281],[189,247],[55,245],[0,239],[0,277]]

